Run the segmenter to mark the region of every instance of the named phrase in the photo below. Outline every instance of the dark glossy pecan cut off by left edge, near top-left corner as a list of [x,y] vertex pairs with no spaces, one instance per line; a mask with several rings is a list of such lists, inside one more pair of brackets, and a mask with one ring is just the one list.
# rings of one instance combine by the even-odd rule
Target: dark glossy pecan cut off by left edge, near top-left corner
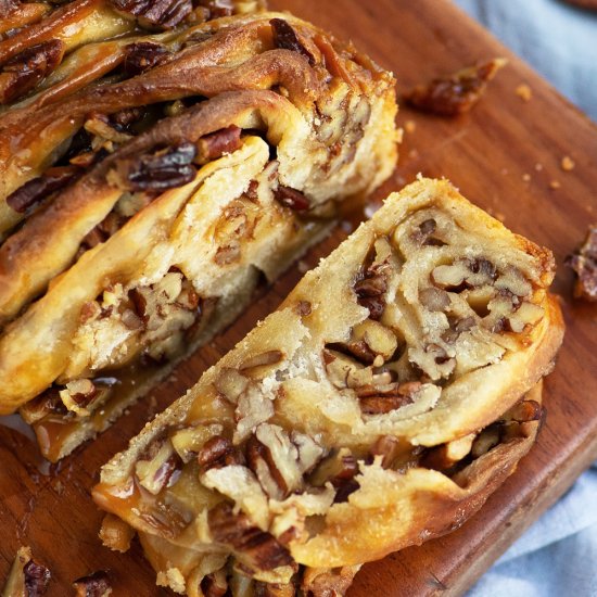
[[50,39],[4,63],[0,74],[0,103],[12,102],[30,91],[62,62],[65,48],[60,39]]

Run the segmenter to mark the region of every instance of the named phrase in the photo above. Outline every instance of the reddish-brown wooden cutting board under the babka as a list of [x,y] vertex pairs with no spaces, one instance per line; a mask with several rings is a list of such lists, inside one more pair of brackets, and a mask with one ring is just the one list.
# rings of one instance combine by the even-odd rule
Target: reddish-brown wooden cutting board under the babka
[[[510,60],[469,115],[443,119],[401,110],[399,124],[408,129],[401,163],[372,200],[419,172],[445,176],[512,230],[552,249],[558,262],[555,291],[562,297],[568,333],[545,384],[548,417],[538,443],[460,530],[364,567],[351,590],[352,597],[457,595],[597,458],[597,306],[572,300],[572,275],[562,267],[587,224],[597,221],[597,129],[447,0],[271,4],[353,39],[396,74],[399,91],[480,59]],[[516,93],[521,84],[530,87],[530,101]],[[570,172],[560,165],[567,155],[575,163]],[[552,181],[560,187],[551,189]],[[314,266],[345,236],[339,229],[304,261]],[[0,427],[0,585],[18,546],[30,545],[52,571],[50,596],[69,595],[74,579],[100,569],[111,570],[116,597],[169,595],[154,586],[138,545],[126,555],[101,547],[97,532],[102,515],[91,503],[90,488],[100,466],[276,308],[300,277],[293,268],[264,290],[240,321],[183,364],[151,398],[60,466],[41,461],[29,437]]]

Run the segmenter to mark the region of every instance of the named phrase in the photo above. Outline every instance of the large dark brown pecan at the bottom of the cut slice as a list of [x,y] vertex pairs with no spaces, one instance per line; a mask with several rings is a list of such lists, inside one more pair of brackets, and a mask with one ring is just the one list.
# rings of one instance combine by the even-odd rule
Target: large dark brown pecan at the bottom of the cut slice
[[215,542],[232,547],[239,556],[259,570],[274,570],[294,562],[290,551],[274,535],[265,533],[246,515],[234,513],[223,501],[207,512],[207,524]]

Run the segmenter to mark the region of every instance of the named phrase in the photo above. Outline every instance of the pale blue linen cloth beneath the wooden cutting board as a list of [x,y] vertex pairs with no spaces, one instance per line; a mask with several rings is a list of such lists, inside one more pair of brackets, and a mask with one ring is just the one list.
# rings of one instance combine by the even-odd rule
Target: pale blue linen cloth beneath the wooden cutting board
[[[597,120],[597,12],[560,0],[454,0]],[[597,463],[468,597],[597,597]]]

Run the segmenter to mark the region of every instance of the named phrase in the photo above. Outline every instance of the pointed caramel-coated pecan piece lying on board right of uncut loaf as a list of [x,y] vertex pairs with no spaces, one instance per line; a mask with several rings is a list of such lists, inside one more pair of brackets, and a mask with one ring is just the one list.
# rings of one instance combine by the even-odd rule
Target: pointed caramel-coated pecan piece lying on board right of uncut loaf
[[506,64],[494,59],[484,64],[469,66],[457,73],[419,85],[405,94],[406,101],[421,110],[441,116],[457,116],[468,112],[480,99],[487,82]]

